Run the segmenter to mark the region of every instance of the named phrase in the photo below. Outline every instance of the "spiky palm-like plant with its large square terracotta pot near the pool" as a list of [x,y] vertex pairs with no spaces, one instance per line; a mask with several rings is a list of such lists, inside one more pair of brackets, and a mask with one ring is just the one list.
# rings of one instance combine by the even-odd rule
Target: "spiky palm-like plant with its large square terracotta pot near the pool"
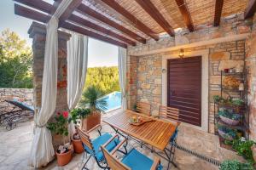
[[101,123],[101,112],[107,110],[107,101],[100,99],[102,92],[96,86],[90,86],[85,89],[82,94],[80,106],[90,109],[90,115],[83,119],[82,127],[85,131],[89,131],[92,127]]

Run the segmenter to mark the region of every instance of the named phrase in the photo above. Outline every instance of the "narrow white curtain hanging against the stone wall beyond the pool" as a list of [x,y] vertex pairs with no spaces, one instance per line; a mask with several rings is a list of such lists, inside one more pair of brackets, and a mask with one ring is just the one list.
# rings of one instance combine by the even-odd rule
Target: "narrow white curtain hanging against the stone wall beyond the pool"
[[119,47],[119,86],[122,93],[122,109],[127,108],[126,101],[126,49]]

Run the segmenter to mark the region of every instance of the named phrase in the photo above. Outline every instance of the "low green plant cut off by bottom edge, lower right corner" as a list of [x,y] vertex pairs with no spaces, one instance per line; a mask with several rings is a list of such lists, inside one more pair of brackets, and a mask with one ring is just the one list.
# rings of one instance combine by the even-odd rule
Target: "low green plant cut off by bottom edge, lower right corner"
[[219,170],[253,170],[253,166],[236,160],[225,160],[219,166]]

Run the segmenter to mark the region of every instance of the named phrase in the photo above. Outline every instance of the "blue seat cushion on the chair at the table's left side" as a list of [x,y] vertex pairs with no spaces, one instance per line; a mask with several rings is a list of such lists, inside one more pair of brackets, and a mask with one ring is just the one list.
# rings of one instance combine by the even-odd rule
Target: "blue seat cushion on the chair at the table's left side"
[[[106,142],[108,142],[109,139],[112,138],[112,135],[109,133],[104,133],[102,134],[102,136],[97,137],[96,139],[94,139],[91,143],[93,145],[93,148],[95,150],[95,152],[93,152],[93,150],[90,150],[90,148],[88,148],[85,144],[84,144],[84,150],[87,151],[88,153],[90,153],[93,156],[96,156],[97,161],[102,161],[103,160],[103,153],[101,150],[101,145],[105,144]],[[114,139],[112,142],[110,142],[106,149],[111,152],[115,146],[117,146],[117,144],[119,144],[119,139]]]

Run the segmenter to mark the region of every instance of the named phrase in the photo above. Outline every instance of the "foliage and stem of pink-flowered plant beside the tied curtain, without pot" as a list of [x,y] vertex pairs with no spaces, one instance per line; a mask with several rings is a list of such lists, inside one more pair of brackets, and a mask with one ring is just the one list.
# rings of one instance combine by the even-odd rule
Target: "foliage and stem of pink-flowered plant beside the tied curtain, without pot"
[[68,112],[63,111],[62,113],[58,113],[57,116],[55,116],[54,122],[48,122],[47,128],[50,130],[50,132],[61,135],[63,144],[65,144],[64,136],[68,135],[67,124]]

